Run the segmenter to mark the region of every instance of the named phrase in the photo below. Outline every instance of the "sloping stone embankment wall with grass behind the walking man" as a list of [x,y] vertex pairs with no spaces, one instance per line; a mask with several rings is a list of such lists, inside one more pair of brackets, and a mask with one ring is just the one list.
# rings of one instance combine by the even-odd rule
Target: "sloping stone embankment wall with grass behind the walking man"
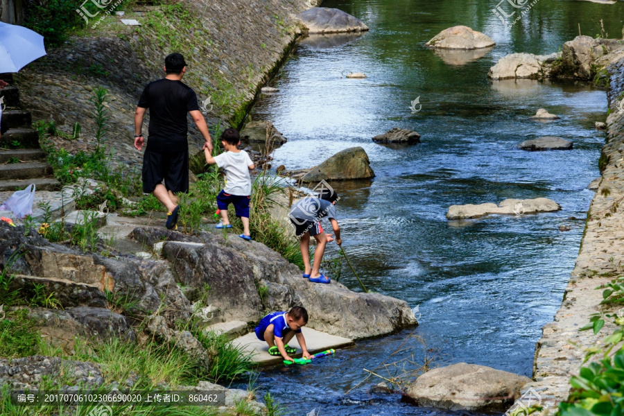
[[[123,17],[112,13],[94,27],[101,13],[68,44],[19,72],[21,102],[34,120],[53,119],[61,130],[80,122],[82,140],[92,141],[89,98],[94,87],[105,87],[113,162],[140,168],[142,155],[132,147],[134,112],[144,85],[164,76],[168,53],[184,54],[184,83],[200,102],[211,98],[208,124],[238,125],[300,33],[295,15],[308,7],[305,0],[182,0],[125,10]],[[125,26],[122,18],[141,26]],[[190,117],[189,127],[193,154],[203,139]]]

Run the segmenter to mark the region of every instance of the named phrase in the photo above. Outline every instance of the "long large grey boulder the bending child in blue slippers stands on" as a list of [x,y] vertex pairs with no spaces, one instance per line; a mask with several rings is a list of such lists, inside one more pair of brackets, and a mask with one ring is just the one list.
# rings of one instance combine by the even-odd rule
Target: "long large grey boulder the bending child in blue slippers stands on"
[[406,302],[356,293],[335,281],[311,283],[297,266],[256,241],[153,227],[138,227],[132,235],[147,244],[166,240],[162,255],[174,264],[176,280],[198,291],[208,284],[206,302],[221,309],[221,320],[258,322],[269,311],[299,305],[309,311],[309,327],[352,339],[417,324]]

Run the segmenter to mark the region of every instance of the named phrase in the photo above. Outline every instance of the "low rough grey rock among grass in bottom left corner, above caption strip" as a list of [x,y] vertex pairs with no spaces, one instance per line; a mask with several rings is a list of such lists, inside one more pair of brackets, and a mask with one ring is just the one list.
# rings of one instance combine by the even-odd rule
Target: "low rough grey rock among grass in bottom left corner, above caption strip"
[[36,389],[44,376],[51,380],[64,376],[75,381],[73,385],[85,386],[98,386],[105,381],[97,364],[39,355],[0,359],[0,385],[6,383],[14,390]]

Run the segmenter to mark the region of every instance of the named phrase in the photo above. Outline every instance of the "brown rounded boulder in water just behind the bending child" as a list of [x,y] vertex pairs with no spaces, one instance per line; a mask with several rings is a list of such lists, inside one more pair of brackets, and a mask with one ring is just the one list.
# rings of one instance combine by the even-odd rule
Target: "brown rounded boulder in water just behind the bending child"
[[375,173],[370,167],[370,160],[361,147],[340,150],[325,162],[314,166],[302,178],[302,182],[320,182],[322,180],[370,179]]

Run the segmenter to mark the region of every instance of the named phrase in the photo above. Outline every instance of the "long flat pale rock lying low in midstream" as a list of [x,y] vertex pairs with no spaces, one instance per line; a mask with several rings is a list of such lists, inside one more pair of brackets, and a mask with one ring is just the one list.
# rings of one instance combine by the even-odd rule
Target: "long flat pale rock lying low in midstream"
[[524,214],[536,214],[537,212],[552,212],[561,209],[557,202],[548,198],[535,199],[506,199],[499,205],[492,202],[485,204],[451,205],[447,211],[447,219],[463,220],[466,218],[478,218],[490,214],[508,214],[522,216]]

